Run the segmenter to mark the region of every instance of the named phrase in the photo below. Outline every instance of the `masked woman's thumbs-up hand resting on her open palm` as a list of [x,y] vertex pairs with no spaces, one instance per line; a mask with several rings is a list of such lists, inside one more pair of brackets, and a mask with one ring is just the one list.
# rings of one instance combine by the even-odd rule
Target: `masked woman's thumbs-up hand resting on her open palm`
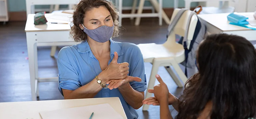
[[117,60],[118,54],[115,52],[111,63],[105,70],[102,71],[106,81],[113,79],[125,79],[127,77],[127,74],[129,73],[129,63],[117,63]]

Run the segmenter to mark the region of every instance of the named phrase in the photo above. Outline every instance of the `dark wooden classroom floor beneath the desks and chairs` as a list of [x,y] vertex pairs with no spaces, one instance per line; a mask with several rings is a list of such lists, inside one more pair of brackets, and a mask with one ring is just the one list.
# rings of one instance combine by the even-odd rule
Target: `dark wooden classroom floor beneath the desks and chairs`
[[[25,23],[0,24],[0,102],[31,101]],[[163,26],[159,26],[158,19],[155,18],[142,18],[140,26],[134,26],[134,22],[130,19],[123,19],[123,26],[120,37],[113,40],[135,44],[164,43],[166,40],[168,26],[164,22]],[[55,57],[51,57],[50,47],[38,48],[40,78],[57,77],[57,53]],[[151,68],[151,64],[145,63],[147,82]],[[183,88],[177,88],[167,71],[160,67],[158,73],[167,83],[170,92],[175,96],[180,96]],[[41,82],[39,90],[38,100],[63,99],[58,91],[57,82]],[[137,112],[139,119],[159,119],[159,106],[150,106],[148,111],[142,111],[141,107]],[[175,115],[175,112],[172,114]]]

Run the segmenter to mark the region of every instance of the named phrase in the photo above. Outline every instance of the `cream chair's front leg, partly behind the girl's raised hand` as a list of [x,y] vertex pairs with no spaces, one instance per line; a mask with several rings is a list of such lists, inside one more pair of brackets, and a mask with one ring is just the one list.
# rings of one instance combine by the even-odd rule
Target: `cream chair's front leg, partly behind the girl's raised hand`
[[[147,92],[146,92],[145,99],[150,98],[152,96],[152,94],[148,92],[148,89],[153,89],[154,88],[154,85],[155,85],[155,82],[156,82],[155,75],[158,72],[158,68],[159,68],[159,63],[157,63],[157,62],[153,63],[151,74],[150,74],[150,80],[148,81],[148,86],[147,86]],[[148,108],[149,108],[149,105],[144,104],[142,110],[147,111]]]

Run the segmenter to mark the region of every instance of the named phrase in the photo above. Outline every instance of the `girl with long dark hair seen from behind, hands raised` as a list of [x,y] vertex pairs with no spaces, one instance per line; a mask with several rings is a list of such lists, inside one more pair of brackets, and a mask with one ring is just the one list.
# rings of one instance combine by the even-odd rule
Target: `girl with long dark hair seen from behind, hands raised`
[[168,104],[179,112],[176,119],[248,119],[256,113],[256,52],[245,38],[214,34],[199,46],[199,72],[185,84],[177,99],[156,75],[159,85],[148,92],[155,97],[144,104],[160,105],[161,119],[172,119]]

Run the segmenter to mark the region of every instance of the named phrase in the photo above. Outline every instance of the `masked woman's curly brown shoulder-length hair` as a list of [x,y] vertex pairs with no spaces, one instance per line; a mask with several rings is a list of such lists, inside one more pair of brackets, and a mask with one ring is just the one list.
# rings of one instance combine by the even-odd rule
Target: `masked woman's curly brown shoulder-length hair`
[[105,6],[113,19],[114,22],[114,33],[112,37],[117,37],[119,32],[118,27],[118,11],[111,1],[108,0],[81,0],[75,7],[73,14],[73,21],[71,22],[70,34],[76,42],[85,41],[87,34],[80,29],[79,24],[82,24],[87,11],[93,8],[99,8],[100,6]]

